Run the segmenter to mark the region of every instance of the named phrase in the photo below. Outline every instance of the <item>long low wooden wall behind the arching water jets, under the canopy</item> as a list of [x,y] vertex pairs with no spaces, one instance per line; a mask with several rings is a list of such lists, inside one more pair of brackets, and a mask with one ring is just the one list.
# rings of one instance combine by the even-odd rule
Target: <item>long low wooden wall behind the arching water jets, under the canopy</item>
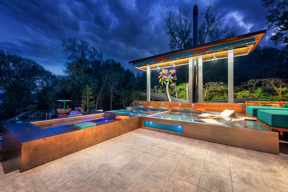
[[[164,108],[172,109],[172,107],[178,107],[179,103],[177,102],[161,102],[161,101],[133,101],[135,106],[138,106],[139,103],[142,103],[143,107],[148,107],[151,103],[154,103],[155,108],[160,107],[161,104],[164,104]],[[192,104],[194,104],[194,109],[204,109],[205,111],[217,111],[222,112],[226,109],[234,110],[235,113],[246,113],[246,105],[240,103],[181,103],[181,109],[184,108],[192,108]],[[152,106],[154,107],[152,104]],[[163,105],[162,105],[163,107]]]

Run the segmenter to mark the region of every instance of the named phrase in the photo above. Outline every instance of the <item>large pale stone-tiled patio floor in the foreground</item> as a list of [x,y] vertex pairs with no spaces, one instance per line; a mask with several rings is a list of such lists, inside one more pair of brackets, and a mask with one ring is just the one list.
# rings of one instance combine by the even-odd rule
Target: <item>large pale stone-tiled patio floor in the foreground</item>
[[0,191],[288,191],[288,156],[137,129],[23,173],[0,166]]

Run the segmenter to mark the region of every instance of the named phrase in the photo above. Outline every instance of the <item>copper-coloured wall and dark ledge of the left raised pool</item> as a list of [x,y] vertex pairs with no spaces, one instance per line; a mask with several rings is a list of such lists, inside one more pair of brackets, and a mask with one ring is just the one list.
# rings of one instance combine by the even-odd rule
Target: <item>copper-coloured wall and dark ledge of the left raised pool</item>
[[3,148],[6,149],[2,153],[4,172],[9,173],[17,169],[24,172],[139,128],[138,116],[130,116],[126,120],[99,122],[94,127],[75,129],[62,134],[54,134],[37,126],[104,115],[120,116],[96,112],[81,117],[3,125]]

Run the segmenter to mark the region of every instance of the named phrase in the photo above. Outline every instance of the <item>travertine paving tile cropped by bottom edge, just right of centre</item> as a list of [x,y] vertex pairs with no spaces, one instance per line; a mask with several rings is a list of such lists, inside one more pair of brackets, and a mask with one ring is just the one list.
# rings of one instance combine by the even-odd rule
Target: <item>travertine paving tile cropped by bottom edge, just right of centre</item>
[[161,192],[196,192],[197,186],[171,176]]

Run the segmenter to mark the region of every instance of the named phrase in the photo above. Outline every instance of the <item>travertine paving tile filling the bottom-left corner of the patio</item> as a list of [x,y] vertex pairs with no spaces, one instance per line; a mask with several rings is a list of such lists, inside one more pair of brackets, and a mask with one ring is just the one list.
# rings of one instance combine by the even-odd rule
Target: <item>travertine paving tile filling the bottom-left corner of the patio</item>
[[18,191],[38,181],[40,181],[40,179],[35,172],[29,170],[0,183],[0,191]]

